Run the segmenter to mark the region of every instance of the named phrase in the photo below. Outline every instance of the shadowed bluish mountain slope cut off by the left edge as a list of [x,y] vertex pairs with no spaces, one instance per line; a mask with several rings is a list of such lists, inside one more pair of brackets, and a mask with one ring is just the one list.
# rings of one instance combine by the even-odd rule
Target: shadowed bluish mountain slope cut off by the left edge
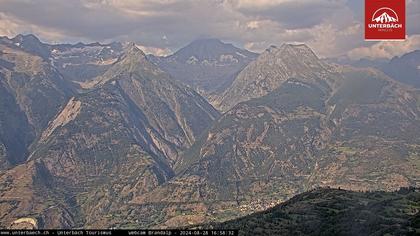
[[0,41],[0,143],[12,166],[26,160],[29,145],[72,94],[61,74],[32,54],[28,41],[19,41],[27,45],[24,48],[11,40]]

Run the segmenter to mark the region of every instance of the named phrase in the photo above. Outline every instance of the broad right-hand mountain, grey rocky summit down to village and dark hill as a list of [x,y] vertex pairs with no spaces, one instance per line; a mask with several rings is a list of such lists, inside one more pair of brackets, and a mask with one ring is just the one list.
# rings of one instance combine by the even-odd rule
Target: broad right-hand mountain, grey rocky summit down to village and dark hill
[[200,223],[192,219],[209,210],[214,220],[235,218],[318,186],[418,185],[419,93],[382,72],[324,65],[306,46],[283,45],[261,54],[227,91],[242,91],[233,98],[245,101],[233,101],[185,152],[175,178],[134,200],[192,212],[164,219],[166,227]]

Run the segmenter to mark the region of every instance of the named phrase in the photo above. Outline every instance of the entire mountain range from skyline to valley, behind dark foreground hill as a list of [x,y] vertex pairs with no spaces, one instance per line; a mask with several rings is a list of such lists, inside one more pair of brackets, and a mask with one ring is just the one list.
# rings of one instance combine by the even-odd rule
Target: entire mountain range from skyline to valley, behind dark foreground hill
[[[326,219],[318,205],[307,225],[277,209],[391,199],[383,191],[419,186],[417,56],[372,68],[304,44],[255,54],[201,39],[157,57],[134,43],[2,37],[0,226],[243,227],[282,204],[257,219],[306,232]],[[416,191],[395,198],[404,212],[404,199],[418,203]],[[327,220],[354,219],[343,217]]]

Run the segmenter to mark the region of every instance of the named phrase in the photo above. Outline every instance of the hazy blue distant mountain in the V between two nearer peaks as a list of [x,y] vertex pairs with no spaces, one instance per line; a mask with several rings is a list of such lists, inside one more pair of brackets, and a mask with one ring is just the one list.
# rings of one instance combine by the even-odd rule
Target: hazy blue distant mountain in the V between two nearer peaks
[[218,39],[199,39],[167,57],[151,57],[174,79],[213,100],[257,54]]

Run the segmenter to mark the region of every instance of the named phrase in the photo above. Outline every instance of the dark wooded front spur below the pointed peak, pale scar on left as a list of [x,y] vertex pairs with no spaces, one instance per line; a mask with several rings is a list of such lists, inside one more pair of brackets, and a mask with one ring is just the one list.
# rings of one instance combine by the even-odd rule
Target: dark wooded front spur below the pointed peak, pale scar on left
[[[169,159],[153,143],[144,114],[116,83],[70,100],[31,154],[42,160],[64,189],[73,189],[86,218],[103,220],[118,208],[173,176]],[[93,223],[92,223],[93,224]],[[56,226],[57,227],[57,226]]]

